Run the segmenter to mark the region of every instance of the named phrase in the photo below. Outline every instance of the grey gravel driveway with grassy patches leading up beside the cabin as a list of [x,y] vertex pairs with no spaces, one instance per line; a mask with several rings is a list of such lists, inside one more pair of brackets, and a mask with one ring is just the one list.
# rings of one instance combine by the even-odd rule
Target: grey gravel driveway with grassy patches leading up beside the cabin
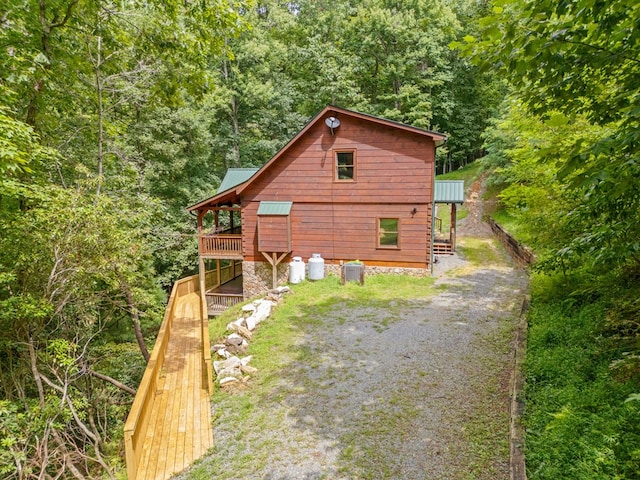
[[[478,213],[463,233],[486,234]],[[441,256],[438,293],[423,300],[323,312],[298,345],[305,360],[267,401],[248,416],[214,411],[226,416],[216,453],[183,478],[508,479],[511,340],[527,278],[498,257],[473,267]],[[234,422],[255,430],[240,436]]]

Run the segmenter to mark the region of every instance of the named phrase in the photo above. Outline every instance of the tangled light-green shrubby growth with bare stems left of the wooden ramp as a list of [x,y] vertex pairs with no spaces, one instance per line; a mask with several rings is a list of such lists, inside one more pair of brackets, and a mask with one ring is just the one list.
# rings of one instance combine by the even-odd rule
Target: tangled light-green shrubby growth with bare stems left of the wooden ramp
[[101,372],[99,352],[127,318],[148,358],[143,328],[161,316],[144,246],[146,204],[46,186],[24,202],[0,222],[0,428],[10,439],[0,455],[12,459],[8,478],[110,473],[115,432],[107,425],[117,425],[123,399],[105,389],[130,401],[135,383],[125,382],[139,378]]

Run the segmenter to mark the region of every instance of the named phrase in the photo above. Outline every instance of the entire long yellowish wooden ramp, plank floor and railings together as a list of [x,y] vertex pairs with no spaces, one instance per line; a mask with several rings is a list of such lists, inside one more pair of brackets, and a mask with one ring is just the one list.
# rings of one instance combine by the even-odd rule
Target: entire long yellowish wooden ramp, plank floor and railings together
[[170,478],[213,446],[207,317],[194,290],[185,284],[172,293],[150,373],[145,372],[127,420],[129,480]]

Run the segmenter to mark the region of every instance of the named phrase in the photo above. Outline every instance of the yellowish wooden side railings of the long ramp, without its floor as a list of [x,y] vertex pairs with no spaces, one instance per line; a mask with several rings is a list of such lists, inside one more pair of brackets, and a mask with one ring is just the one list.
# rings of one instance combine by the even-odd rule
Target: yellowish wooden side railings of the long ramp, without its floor
[[[186,277],[174,283],[169,296],[169,302],[165,310],[162,325],[156,338],[156,343],[147,363],[147,368],[142,376],[142,381],[133,400],[129,416],[124,426],[124,441],[127,461],[127,475],[129,480],[135,480],[136,471],[142,454],[142,446],[149,424],[149,414],[153,406],[158,379],[164,365],[164,358],[171,336],[171,326],[174,318],[174,309],[179,297],[199,291],[198,275]],[[209,328],[204,299],[200,305],[201,333],[203,339],[204,371],[207,378],[203,379],[207,385],[209,394],[213,393],[213,369],[211,364],[211,352],[209,347]]]

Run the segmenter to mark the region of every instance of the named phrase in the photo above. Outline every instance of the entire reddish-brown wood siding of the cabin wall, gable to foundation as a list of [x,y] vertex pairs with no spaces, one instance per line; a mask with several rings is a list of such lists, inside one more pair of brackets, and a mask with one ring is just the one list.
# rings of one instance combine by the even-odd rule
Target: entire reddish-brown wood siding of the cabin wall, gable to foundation
[[[423,135],[344,117],[335,135],[317,122],[242,192],[243,254],[258,248],[260,201],[292,201],[291,255],[329,263],[427,267],[435,145]],[[354,182],[334,180],[334,152],[356,150]],[[411,212],[416,208],[417,213]],[[400,248],[377,248],[378,218],[400,220]],[[282,237],[286,231],[282,231]],[[262,239],[261,239],[262,241]],[[275,237],[272,239],[275,241]]]

